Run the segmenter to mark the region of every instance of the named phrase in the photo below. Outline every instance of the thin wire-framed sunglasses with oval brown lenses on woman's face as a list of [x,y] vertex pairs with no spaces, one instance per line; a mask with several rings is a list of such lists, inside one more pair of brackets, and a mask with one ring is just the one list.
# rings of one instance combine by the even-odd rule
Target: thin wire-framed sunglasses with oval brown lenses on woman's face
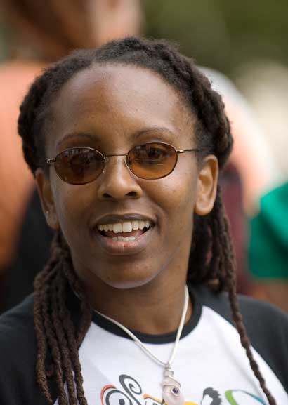
[[124,156],[126,166],[138,178],[156,180],[169,175],[178,161],[178,154],[201,152],[200,149],[176,150],[164,142],[148,142],[138,145],[125,154],[102,154],[92,147],[72,147],[63,150],[55,159],[48,159],[48,165],[54,165],[58,176],[74,185],[93,182],[105,171],[109,157]]

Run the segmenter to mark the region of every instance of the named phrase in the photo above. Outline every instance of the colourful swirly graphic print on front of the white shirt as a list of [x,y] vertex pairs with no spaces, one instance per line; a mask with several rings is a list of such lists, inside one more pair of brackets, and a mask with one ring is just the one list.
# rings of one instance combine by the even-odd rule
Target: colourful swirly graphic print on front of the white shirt
[[[162,399],[143,392],[138,381],[126,374],[119,376],[120,387],[105,385],[100,393],[102,405],[164,405]],[[194,401],[193,401],[194,400]],[[261,398],[244,390],[228,388],[222,394],[212,387],[202,392],[200,401],[191,398],[185,405],[266,405]]]

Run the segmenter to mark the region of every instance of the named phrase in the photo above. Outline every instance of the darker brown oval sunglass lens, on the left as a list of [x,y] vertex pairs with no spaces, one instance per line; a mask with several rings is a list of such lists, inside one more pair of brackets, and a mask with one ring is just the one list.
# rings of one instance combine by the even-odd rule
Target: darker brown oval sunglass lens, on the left
[[70,184],[86,184],[98,178],[103,170],[103,157],[97,150],[74,147],[58,154],[55,170]]

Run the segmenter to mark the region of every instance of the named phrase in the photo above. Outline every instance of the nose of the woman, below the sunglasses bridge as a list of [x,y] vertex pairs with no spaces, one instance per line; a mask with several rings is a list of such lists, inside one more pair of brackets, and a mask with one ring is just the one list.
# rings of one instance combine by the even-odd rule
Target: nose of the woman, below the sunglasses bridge
[[137,179],[126,166],[125,157],[108,157],[100,176],[98,199],[138,199],[142,194],[143,191]]

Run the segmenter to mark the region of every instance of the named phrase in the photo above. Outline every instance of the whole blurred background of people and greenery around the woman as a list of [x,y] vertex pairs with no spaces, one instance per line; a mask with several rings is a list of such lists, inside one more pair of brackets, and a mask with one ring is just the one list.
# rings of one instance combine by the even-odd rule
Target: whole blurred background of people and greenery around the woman
[[287,0],[0,0],[0,311],[32,291],[52,237],[17,135],[23,95],[74,48],[145,35],[176,42],[223,95],[238,291],[288,312],[287,20]]

